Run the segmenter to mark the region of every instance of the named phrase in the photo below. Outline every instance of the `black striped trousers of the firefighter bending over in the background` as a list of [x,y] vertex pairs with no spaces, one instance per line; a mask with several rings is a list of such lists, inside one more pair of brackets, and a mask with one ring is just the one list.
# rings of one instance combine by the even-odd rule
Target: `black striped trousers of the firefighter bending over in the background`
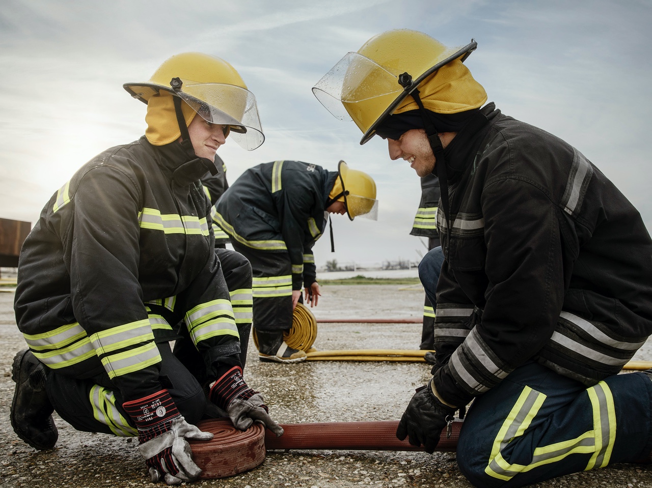
[[288,330],[292,326],[292,263],[287,251],[261,251],[231,243],[251,263],[254,328]]

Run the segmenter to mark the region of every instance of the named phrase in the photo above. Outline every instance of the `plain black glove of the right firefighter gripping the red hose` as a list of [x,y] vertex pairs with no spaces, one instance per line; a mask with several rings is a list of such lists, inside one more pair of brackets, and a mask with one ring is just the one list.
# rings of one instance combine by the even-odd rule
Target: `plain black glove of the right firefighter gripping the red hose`
[[417,390],[396,429],[399,440],[409,438],[413,446],[424,446],[432,454],[439,442],[439,434],[453,420],[456,408],[437,399],[432,380]]

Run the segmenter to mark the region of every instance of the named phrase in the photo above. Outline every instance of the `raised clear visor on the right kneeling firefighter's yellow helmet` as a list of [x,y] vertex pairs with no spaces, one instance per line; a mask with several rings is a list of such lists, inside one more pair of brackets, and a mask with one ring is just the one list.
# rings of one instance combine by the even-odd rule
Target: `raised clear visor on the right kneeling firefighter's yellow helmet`
[[360,53],[350,52],[312,87],[312,93],[336,118],[353,120],[351,104],[389,94],[398,96],[403,91],[399,74]]

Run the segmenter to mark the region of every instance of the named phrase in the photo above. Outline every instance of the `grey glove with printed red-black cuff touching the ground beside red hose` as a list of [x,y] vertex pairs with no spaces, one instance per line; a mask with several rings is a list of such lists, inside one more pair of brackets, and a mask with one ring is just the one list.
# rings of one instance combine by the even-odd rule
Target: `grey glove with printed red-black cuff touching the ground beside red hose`
[[152,483],[163,478],[168,485],[192,481],[201,469],[192,461],[186,439],[209,440],[210,432],[186,422],[168,390],[123,403],[138,428],[138,451],[149,468]]

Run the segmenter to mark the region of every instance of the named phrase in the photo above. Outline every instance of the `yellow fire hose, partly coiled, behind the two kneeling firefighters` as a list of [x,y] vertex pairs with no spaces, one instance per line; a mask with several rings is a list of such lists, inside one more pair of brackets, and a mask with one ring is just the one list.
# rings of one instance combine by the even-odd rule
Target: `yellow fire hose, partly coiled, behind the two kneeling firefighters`
[[[258,347],[256,330],[253,332],[254,344]],[[283,339],[292,349],[306,351],[308,361],[389,361],[426,362],[424,349],[338,349],[317,351],[312,345],[317,339],[317,319],[304,304],[297,304],[292,315],[292,326],[283,334]],[[630,361],[623,369],[643,371],[652,368],[651,361]]]

